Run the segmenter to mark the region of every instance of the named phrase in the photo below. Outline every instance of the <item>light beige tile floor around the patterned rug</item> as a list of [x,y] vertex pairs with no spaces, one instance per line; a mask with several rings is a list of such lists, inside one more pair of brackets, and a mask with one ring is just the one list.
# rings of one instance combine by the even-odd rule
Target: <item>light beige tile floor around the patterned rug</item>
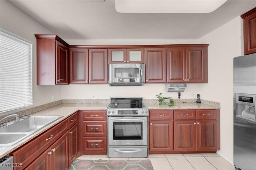
[[218,154],[150,154],[148,158],[108,158],[107,155],[82,155],[78,159],[149,159],[154,170],[234,170]]

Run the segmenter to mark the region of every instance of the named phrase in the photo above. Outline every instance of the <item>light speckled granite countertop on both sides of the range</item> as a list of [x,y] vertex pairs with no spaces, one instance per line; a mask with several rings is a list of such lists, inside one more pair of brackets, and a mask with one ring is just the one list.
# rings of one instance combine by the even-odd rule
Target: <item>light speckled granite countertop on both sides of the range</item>
[[[200,104],[200,103],[175,103],[175,106],[168,107],[166,105],[158,105],[158,103],[144,103],[148,109],[220,109],[220,107],[214,107],[211,105]],[[78,110],[106,110],[108,103],[62,103],[54,107],[36,112],[31,114],[31,116],[63,116],[60,119],[54,121],[50,125],[38,130],[34,134],[28,136],[24,140],[18,142],[13,146],[1,146],[0,147],[0,158],[10,154],[10,152],[19,148],[20,146],[26,144],[39,134],[45,132],[54,125],[60,123],[64,119],[68,118],[70,115]]]

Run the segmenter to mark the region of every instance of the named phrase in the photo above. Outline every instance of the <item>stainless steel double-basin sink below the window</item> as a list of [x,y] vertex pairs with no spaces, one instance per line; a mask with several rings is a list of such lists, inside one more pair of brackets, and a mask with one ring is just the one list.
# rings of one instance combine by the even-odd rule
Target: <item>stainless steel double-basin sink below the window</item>
[[63,116],[30,116],[0,128],[0,146],[13,146]]

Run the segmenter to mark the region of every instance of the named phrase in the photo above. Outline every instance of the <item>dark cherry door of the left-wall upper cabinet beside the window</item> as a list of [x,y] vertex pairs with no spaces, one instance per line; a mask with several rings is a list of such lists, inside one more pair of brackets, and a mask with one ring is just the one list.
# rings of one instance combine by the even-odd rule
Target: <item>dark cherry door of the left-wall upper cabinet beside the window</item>
[[68,84],[68,47],[56,42],[56,84]]

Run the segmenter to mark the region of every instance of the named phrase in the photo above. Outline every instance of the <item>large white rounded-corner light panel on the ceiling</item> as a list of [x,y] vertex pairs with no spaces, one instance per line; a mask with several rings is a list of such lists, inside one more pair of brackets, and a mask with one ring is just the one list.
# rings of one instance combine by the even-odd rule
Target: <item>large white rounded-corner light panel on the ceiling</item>
[[115,0],[120,13],[210,13],[227,0]]

